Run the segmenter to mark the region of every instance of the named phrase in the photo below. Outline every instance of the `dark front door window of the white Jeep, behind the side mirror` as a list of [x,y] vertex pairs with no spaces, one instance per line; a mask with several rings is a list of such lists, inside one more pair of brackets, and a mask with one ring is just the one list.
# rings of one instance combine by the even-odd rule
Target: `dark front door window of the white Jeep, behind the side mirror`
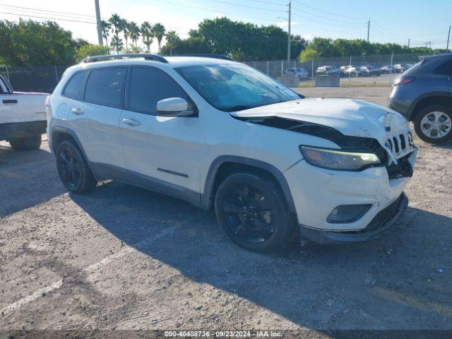
[[157,102],[169,97],[190,99],[167,73],[150,67],[133,67],[130,76],[129,107],[131,111],[153,114]]

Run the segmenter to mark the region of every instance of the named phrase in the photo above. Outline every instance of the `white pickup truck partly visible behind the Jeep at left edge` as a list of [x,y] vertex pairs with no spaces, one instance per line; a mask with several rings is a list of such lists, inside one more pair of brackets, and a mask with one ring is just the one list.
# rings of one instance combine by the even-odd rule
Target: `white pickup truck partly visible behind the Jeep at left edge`
[[0,141],[13,150],[36,150],[46,133],[46,93],[14,92],[8,79],[0,74]]

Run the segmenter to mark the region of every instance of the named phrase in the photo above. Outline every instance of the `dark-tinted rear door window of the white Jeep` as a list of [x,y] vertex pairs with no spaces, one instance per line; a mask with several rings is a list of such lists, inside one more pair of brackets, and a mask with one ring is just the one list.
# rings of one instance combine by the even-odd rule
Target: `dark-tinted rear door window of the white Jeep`
[[85,89],[85,101],[109,107],[121,107],[124,67],[91,71]]

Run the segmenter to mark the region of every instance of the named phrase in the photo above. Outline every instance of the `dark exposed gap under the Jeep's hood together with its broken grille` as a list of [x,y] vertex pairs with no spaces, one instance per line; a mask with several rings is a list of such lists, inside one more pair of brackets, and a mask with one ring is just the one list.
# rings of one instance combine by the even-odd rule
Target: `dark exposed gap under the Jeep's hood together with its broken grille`
[[[416,148],[412,142],[412,134],[410,131],[405,131],[405,133],[403,133],[400,129],[395,129],[398,133],[393,135],[391,134],[391,126],[386,126],[386,143],[381,145],[376,138],[347,136],[331,126],[324,126],[310,121],[299,121],[277,116],[239,117],[232,114],[231,116],[234,119],[246,121],[251,124],[324,138],[338,145],[342,152],[374,154],[379,158],[380,162],[367,167],[384,165],[388,171],[389,179],[412,177],[413,170],[410,157],[415,152]],[[365,167],[357,170],[362,170],[364,168]]]

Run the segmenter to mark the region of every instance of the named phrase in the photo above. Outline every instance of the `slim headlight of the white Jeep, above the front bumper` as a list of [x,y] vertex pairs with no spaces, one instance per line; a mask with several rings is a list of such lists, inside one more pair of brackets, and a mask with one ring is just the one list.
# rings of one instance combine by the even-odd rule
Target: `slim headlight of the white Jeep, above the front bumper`
[[367,167],[381,165],[374,153],[347,152],[330,148],[299,146],[304,160],[310,165],[338,171],[361,171]]

